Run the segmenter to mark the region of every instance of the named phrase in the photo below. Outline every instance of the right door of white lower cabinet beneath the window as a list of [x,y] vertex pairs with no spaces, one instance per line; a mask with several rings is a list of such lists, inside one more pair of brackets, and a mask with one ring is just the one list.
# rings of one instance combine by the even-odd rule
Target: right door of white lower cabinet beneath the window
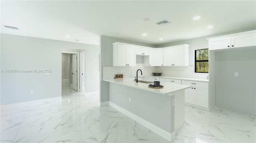
[[194,104],[208,108],[208,88],[195,88]]

